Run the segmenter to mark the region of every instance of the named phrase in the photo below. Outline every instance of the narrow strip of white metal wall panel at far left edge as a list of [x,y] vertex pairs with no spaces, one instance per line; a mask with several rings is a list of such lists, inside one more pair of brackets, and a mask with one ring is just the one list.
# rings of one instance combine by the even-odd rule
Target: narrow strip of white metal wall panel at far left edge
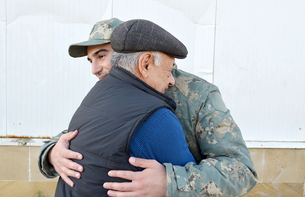
[[0,0],[0,136],[6,136],[6,10]]

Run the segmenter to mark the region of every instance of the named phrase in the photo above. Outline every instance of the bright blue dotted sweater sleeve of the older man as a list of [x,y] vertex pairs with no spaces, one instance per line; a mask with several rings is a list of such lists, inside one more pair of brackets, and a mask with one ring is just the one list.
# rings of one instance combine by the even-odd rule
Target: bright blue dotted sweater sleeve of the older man
[[138,127],[131,139],[130,155],[177,166],[196,163],[188,149],[181,123],[166,108],[157,110]]

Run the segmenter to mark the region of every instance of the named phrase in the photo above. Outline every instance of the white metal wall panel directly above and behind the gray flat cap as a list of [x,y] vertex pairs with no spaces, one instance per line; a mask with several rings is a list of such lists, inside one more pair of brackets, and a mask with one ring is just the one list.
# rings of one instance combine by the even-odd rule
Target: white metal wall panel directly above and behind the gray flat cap
[[146,19],[163,27],[188,49],[187,58],[176,59],[178,68],[211,82],[215,11],[216,0],[113,0],[113,17]]

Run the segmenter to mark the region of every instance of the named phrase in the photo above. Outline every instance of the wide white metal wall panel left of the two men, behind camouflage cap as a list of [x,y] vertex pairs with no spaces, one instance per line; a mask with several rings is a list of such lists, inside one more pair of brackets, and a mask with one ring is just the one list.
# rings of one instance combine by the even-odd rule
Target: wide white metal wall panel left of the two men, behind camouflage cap
[[53,136],[67,129],[98,80],[68,47],[85,41],[97,20],[111,18],[112,1],[7,2],[7,135]]

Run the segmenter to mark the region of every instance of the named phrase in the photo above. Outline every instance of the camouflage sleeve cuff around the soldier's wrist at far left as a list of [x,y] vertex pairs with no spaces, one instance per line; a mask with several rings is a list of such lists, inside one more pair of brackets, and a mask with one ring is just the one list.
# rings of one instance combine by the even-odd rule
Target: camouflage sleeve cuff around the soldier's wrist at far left
[[52,164],[49,163],[48,161],[48,152],[57,143],[60,136],[65,133],[67,133],[67,130],[62,131],[55,137],[49,139],[48,141],[43,141],[44,144],[40,147],[39,157],[38,157],[38,167],[41,174],[43,174],[47,178],[55,178],[59,175],[55,171]]

